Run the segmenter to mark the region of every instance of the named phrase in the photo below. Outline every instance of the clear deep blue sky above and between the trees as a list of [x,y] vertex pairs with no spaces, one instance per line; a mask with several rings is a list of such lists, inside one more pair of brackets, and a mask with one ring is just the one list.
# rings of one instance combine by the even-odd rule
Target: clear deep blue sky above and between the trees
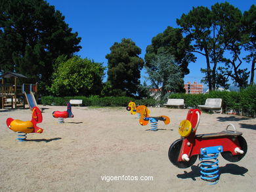
[[[65,16],[65,22],[72,32],[81,37],[81,50],[77,55],[89,58],[108,66],[106,54],[110,47],[120,43],[122,38],[131,38],[142,49],[140,57],[144,59],[146,47],[153,37],[162,33],[167,26],[178,28],[177,18],[187,14],[192,7],[209,7],[217,0],[46,0]],[[249,10],[255,0],[228,0],[230,5],[242,12]],[[196,63],[189,64],[190,73],[184,77],[184,83],[200,83],[204,74],[205,58],[196,54]],[[105,71],[106,72],[106,71]],[[141,83],[145,80],[146,70],[142,69]],[[106,81],[107,75],[104,77]]]

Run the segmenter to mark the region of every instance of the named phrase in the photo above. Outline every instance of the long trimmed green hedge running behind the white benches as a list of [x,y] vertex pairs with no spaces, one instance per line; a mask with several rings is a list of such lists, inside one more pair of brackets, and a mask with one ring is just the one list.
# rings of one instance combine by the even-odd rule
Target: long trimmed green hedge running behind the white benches
[[[251,85],[240,92],[212,91],[209,94],[171,94],[169,98],[184,99],[186,108],[198,108],[199,105],[205,104],[207,98],[221,98],[223,100],[223,112],[230,110],[247,117],[256,115],[256,85]],[[163,101],[154,99],[135,100],[130,97],[104,97],[99,96],[66,96],[54,97],[43,96],[41,102],[43,105],[65,106],[70,100],[83,100],[82,106],[99,106],[99,107],[125,107],[130,101],[135,104],[155,107],[164,104]]]

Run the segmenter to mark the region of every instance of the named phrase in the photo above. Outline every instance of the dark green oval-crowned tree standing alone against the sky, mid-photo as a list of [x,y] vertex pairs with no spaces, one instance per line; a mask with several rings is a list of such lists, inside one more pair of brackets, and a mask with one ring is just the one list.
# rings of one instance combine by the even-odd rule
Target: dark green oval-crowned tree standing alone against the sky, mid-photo
[[131,39],[121,39],[110,47],[108,60],[108,82],[116,94],[125,92],[126,96],[137,94],[140,84],[140,70],[144,61],[139,57],[141,49]]

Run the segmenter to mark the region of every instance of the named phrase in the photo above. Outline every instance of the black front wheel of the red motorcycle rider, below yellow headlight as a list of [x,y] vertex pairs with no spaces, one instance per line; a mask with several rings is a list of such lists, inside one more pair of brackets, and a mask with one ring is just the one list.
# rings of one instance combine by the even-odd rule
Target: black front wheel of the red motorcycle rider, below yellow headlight
[[198,155],[193,155],[192,157],[190,157],[190,161],[178,161],[182,142],[183,142],[182,139],[179,139],[173,142],[173,144],[171,144],[169,148],[168,156],[171,163],[173,163],[175,166],[179,168],[188,168],[196,162]]

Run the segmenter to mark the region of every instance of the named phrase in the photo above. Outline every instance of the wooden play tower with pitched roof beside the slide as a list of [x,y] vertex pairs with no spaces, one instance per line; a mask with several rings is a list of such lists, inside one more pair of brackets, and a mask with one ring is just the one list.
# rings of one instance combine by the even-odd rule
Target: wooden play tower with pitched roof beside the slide
[[[36,105],[35,96],[37,95],[37,84],[23,84],[17,85],[18,78],[27,78],[26,76],[18,73],[4,73],[0,75],[1,84],[0,84],[0,107],[1,109],[11,107],[25,108],[26,100],[30,108],[32,109]],[[14,79],[14,81],[13,81]],[[32,96],[34,105],[31,105],[30,98],[27,96]],[[33,107],[31,107],[33,106]]]

